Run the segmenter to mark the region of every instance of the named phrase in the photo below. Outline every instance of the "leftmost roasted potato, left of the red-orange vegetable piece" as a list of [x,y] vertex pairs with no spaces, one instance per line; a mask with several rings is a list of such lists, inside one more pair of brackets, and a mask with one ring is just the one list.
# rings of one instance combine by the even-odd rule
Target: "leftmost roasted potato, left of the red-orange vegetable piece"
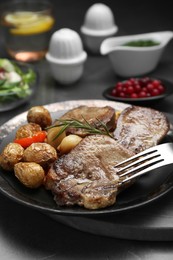
[[7,171],[12,171],[14,165],[23,158],[24,148],[20,144],[9,143],[0,154],[0,166]]

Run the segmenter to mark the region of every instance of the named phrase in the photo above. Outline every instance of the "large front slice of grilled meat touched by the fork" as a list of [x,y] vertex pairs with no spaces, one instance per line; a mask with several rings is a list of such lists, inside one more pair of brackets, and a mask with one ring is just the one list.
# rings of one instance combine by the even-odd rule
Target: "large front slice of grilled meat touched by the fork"
[[58,205],[98,209],[116,201],[119,180],[114,166],[133,155],[113,138],[86,136],[52,164],[46,178]]

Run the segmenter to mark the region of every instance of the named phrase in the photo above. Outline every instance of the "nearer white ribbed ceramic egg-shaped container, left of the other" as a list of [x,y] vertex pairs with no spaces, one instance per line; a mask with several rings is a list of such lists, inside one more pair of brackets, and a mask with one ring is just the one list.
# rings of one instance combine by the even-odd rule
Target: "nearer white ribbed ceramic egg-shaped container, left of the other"
[[79,34],[68,28],[56,31],[50,39],[46,59],[56,81],[63,85],[78,81],[87,59]]

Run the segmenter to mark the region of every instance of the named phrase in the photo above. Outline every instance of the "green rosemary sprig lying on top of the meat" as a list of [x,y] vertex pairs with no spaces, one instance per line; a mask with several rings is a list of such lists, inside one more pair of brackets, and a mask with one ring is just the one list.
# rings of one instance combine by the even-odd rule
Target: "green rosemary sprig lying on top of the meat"
[[85,118],[83,118],[83,122],[77,119],[58,119],[56,120],[56,125],[52,125],[50,127],[47,127],[47,129],[55,128],[55,127],[61,127],[61,130],[57,133],[57,135],[54,137],[53,141],[58,138],[66,129],[68,128],[76,128],[76,129],[84,129],[86,131],[86,134],[100,134],[100,135],[108,135],[111,138],[113,136],[109,132],[109,129],[105,123],[100,121],[96,118],[97,123],[91,125]]

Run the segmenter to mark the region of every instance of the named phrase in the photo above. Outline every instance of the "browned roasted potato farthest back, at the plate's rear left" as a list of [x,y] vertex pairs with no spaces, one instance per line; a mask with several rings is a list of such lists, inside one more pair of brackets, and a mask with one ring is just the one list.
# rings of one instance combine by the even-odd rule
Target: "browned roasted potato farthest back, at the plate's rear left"
[[27,113],[29,123],[36,123],[43,129],[52,124],[52,118],[49,111],[43,106],[35,106],[29,109]]

